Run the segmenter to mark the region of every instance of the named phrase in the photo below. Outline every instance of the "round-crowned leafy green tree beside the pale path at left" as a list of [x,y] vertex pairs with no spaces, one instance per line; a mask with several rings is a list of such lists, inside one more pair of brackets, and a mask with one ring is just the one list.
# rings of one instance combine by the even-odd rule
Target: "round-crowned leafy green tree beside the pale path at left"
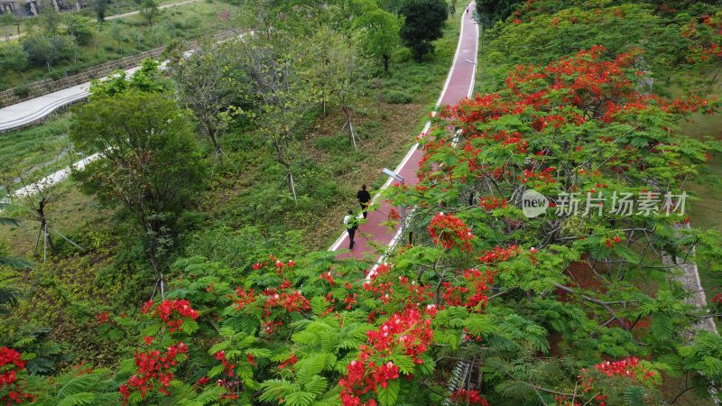
[[102,155],[73,177],[89,195],[134,215],[159,276],[175,219],[205,173],[193,127],[167,94],[131,90],[73,110],[70,139],[79,151]]

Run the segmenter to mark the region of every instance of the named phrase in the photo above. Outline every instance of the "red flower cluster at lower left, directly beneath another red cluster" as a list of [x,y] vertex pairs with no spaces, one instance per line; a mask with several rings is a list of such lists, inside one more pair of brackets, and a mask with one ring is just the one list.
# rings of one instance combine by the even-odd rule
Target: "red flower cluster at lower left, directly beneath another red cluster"
[[147,349],[143,352],[136,350],[134,356],[138,373],[132,375],[127,383],[120,385],[118,390],[123,395],[123,404],[128,403],[132,392],[140,392],[144,399],[148,391],[156,387],[158,392],[170,395],[168,388],[171,386],[174,376],[172,371],[186,353],[188,353],[188,346],[182,342],[166,348],[165,354],[157,349]]

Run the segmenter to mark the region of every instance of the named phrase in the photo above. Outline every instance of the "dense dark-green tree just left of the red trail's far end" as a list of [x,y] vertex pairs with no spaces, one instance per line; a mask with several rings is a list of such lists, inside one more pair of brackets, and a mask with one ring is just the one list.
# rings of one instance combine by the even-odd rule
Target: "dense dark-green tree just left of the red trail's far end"
[[449,8],[444,0],[405,0],[399,10],[404,21],[401,39],[413,51],[416,60],[434,51],[431,43],[443,35],[441,29],[449,17]]

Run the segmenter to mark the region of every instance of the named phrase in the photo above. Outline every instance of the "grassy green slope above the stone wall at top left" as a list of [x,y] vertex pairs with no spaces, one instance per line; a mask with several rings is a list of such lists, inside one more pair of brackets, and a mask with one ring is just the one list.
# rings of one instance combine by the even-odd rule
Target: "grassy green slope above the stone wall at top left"
[[[43,78],[62,78],[80,69],[153,50],[172,41],[218,32],[223,29],[218,14],[224,10],[233,13],[238,9],[237,5],[217,0],[200,0],[189,5],[160,10],[152,26],[149,26],[140,14],[94,23],[97,31],[87,45],[79,47],[75,59],[70,58],[51,65],[51,71],[45,66],[25,69],[22,75],[14,70],[7,70],[0,78],[0,89],[14,88]],[[0,42],[0,47],[3,46],[6,44]]]

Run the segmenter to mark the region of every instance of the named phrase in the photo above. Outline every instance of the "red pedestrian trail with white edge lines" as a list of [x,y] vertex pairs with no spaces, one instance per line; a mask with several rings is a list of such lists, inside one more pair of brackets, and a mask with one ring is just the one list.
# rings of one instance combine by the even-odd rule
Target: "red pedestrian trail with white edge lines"
[[[446,78],[444,88],[441,90],[439,100],[436,106],[455,105],[464,97],[471,97],[474,91],[474,78],[477,74],[477,46],[478,46],[478,26],[471,18],[475,4],[468,5],[468,13],[461,13],[461,29],[458,36],[457,51],[454,54],[454,62],[449,69],[449,75]],[[435,112],[431,113],[436,115]],[[430,121],[426,123],[421,134],[429,130]],[[396,167],[395,172],[403,176],[408,186],[413,186],[419,182],[416,176],[416,170],[419,168],[419,162],[423,157],[423,152],[419,149],[419,144],[415,143],[412,149],[406,153],[403,161]],[[388,188],[392,183],[389,178],[382,186],[381,190]],[[382,225],[387,220],[389,203],[385,200],[379,200],[381,190],[373,197],[372,210],[368,212],[366,223],[359,226],[356,230],[356,238],[354,249],[341,254],[338,258],[354,257],[358,259],[371,259],[375,263],[384,261],[384,257],[396,245],[401,237],[401,229],[399,225],[396,229]],[[356,206],[358,208],[358,206]],[[337,251],[339,249],[348,248],[348,234],[344,230],[343,234],[338,237],[336,243],[331,245],[329,251]],[[384,254],[378,255],[378,249],[384,248]],[[373,271],[372,271],[373,272]]]

